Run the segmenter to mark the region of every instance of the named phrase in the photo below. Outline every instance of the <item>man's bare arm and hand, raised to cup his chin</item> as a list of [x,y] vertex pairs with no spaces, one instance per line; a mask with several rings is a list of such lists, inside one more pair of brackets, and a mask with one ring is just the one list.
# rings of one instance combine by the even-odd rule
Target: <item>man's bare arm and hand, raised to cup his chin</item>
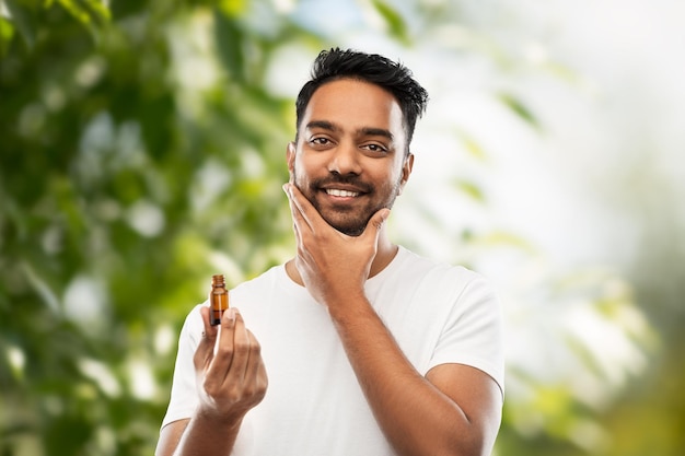
[[314,299],[328,306],[376,421],[398,454],[489,454],[501,419],[496,382],[461,364],[421,376],[364,295],[379,249],[390,250],[382,233],[387,211],[379,211],[361,236],[349,237],[328,226],[294,186],[287,192],[297,269]]

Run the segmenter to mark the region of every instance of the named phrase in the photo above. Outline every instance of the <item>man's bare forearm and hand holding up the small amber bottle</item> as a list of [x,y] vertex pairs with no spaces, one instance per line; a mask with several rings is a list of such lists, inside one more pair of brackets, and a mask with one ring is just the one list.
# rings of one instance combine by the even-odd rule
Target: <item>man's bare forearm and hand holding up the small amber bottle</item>
[[200,311],[205,332],[194,358],[199,405],[190,419],[162,428],[155,456],[230,455],[243,417],[266,394],[260,347],[240,313],[225,312],[218,331],[208,311]]

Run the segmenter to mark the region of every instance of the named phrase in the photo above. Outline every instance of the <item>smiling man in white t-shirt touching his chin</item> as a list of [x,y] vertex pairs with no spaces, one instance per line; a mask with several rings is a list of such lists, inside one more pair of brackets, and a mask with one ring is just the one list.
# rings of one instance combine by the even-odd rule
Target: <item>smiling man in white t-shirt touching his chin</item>
[[207,305],[188,315],[158,456],[490,453],[497,301],[385,229],[427,101],[384,57],[317,57],[287,149],[297,255],[232,290],[220,331]]

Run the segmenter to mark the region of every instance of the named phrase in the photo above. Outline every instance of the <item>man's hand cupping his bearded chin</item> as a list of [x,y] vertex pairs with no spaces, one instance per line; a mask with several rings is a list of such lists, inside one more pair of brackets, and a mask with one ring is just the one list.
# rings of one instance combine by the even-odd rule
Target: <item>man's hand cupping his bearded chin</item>
[[364,232],[353,237],[330,226],[293,184],[286,184],[283,190],[290,200],[298,245],[295,267],[309,292],[325,305],[362,295],[390,210],[373,214]]

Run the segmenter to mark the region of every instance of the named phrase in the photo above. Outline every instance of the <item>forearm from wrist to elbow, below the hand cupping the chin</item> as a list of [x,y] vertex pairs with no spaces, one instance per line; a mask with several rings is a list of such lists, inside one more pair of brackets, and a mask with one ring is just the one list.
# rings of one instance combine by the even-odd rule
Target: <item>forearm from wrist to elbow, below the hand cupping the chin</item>
[[330,308],[367,400],[399,454],[481,453],[464,410],[416,371],[364,297]]

